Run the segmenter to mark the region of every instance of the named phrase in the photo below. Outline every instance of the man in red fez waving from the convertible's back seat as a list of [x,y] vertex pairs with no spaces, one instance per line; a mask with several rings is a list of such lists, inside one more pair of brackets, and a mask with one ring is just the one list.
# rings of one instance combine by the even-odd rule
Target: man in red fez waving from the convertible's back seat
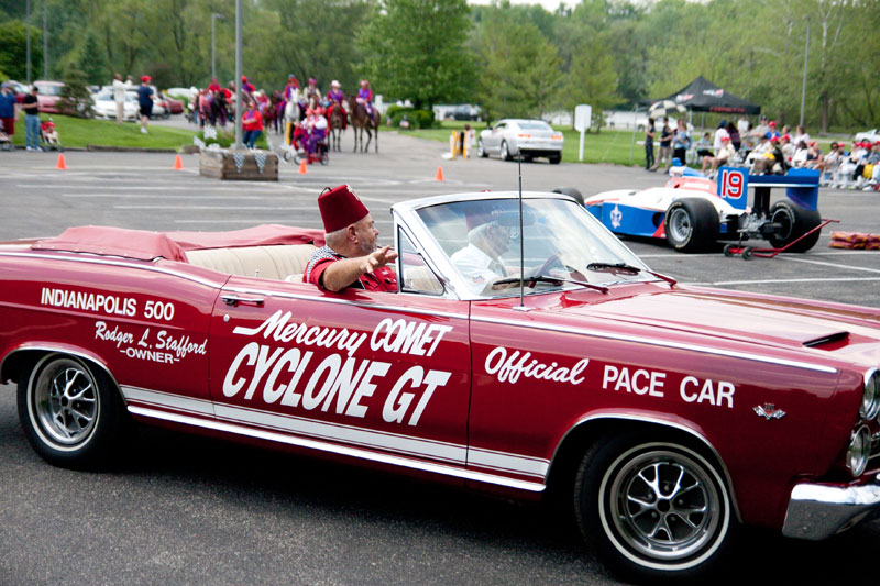
[[373,217],[348,185],[329,187],[318,197],[326,246],[315,251],[302,276],[305,283],[328,291],[345,287],[397,292],[397,275],[388,268],[397,253],[376,250]]

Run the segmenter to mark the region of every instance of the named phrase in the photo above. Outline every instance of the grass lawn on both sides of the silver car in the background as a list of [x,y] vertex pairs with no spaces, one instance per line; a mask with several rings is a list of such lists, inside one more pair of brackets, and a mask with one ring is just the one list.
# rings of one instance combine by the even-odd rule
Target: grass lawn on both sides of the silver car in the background
[[[485,122],[463,122],[459,120],[444,120],[439,129],[400,131],[402,134],[428,139],[431,141],[442,141],[449,143],[452,131],[460,131],[464,124],[471,124],[480,131],[486,128]],[[562,150],[562,161],[565,163],[578,163],[578,151],[581,141],[581,133],[570,128],[553,126],[565,136],[565,146]],[[644,132],[636,133],[636,140],[644,140]],[[587,133],[584,135],[584,163],[614,163],[617,165],[629,165],[629,152],[632,145],[632,131],[603,130],[600,133]],[[636,145],[632,150],[632,164],[642,165],[645,159],[645,147]]]

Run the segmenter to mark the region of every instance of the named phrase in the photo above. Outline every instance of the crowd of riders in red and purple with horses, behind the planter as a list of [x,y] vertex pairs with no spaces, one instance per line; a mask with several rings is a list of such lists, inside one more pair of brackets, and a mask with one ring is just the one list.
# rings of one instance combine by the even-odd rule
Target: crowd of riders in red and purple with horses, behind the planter
[[[257,90],[242,76],[242,96],[245,104],[242,130],[249,148],[254,148],[264,132],[274,132],[284,134],[286,145],[314,155],[327,139],[334,111],[342,112],[343,130],[348,126],[348,99],[337,80],[330,82],[330,89],[323,95],[315,78],[309,78],[306,87],[300,88],[299,80],[292,74],[283,89],[265,91]],[[375,117],[373,90],[366,79],[361,80],[355,100],[364,104],[369,115]],[[188,109],[195,124],[226,128],[235,119],[234,81],[222,87],[213,78],[207,88],[194,92]]]

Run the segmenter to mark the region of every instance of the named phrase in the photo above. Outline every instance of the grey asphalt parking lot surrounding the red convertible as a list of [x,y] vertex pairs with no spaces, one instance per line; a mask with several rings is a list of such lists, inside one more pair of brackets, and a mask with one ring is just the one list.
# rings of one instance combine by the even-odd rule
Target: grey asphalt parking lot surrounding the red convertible
[[[446,161],[444,145],[382,134],[380,153],[331,153],[307,175],[282,165],[278,183],[221,183],[198,157],[139,153],[0,154],[0,240],[48,236],[72,225],[233,230],[260,223],[319,228],[316,198],[348,183],[389,242],[388,207],[428,195],[517,188],[517,166]],[[444,181],[435,180],[442,166]],[[526,190],[585,196],[662,185],[612,165],[522,165]],[[880,194],[823,189],[835,230],[880,232]],[[681,255],[627,244],[683,283],[880,307],[880,251],[838,251],[745,262],[721,252]],[[809,439],[804,439],[809,449]],[[381,473],[265,454],[139,429],[132,457],[112,473],[44,464],[0,386],[0,584],[615,584],[580,546],[576,530],[540,507],[486,499]],[[750,532],[738,579],[864,579],[853,552],[880,545],[880,522],[823,543]],[[772,551],[772,555],[768,552]]]

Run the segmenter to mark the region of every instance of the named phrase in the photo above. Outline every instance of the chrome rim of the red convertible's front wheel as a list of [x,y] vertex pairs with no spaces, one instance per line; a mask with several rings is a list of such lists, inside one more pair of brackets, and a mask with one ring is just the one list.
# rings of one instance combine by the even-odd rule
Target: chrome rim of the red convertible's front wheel
[[612,485],[613,522],[627,546],[676,560],[702,549],[718,522],[718,493],[703,467],[674,452],[628,462]]

